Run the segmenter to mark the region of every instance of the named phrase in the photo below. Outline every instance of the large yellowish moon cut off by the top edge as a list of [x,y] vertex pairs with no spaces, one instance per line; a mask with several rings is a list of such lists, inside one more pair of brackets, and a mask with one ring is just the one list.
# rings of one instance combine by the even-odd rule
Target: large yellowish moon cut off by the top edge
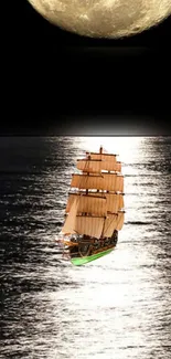
[[89,38],[117,39],[171,14],[171,0],[29,0],[51,23]]

